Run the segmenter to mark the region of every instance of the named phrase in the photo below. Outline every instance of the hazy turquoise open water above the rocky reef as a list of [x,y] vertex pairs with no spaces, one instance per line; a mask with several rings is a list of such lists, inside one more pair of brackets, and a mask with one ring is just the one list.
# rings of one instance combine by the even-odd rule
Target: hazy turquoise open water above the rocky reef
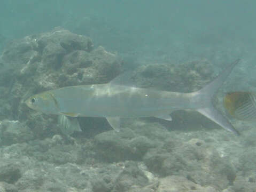
[[[2,1],[1,34],[8,39],[61,26],[119,53],[167,52],[177,59],[209,47],[252,50],[253,1]],[[211,45],[211,46],[209,46]],[[249,49],[250,47],[250,49]],[[144,53],[145,54],[145,53]],[[179,55],[177,55],[179,54]],[[227,55],[231,59],[232,55]],[[186,58],[187,59],[187,58]]]

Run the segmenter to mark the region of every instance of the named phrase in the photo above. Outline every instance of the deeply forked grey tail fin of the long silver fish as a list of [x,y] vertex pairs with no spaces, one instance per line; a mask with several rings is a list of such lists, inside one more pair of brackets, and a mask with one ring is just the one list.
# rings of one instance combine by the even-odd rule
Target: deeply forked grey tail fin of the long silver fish
[[220,111],[216,110],[212,104],[212,99],[215,94],[224,83],[228,75],[231,73],[232,69],[237,65],[240,59],[232,62],[226,69],[222,71],[222,73],[216,77],[210,84],[206,85],[203,89],[193,93],[195,94],[195,100],[197,102],[201,102],[203,107],[196,109],[200,114],[206,116],[211,119],[216,124],[219,124],[224,129],[239,135],[239,132],[235,129],[235,127],[228,121],[226,117],[224,117]]

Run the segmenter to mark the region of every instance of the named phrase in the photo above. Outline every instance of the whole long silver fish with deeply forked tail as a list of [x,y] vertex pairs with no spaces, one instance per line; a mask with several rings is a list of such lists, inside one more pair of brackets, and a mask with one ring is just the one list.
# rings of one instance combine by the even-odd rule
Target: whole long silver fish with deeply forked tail
[[68,86],[33,95],[28,107],[46,114],[70,117],[106,117],[119,130],[120,117],[158,117],[171,120],[174,110],[196,110],[228,131],[238,132],[214,109],[212,98],[239,62],[231,63],[213,82],[192,93],[177,93],[142,89],[133,86],[107,84]]

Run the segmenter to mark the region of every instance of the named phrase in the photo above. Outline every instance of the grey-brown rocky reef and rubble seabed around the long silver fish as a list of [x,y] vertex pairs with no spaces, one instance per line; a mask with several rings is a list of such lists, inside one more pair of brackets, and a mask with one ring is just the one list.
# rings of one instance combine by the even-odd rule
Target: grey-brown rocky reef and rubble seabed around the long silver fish
[[[120,132],[103,118],[79,118],[81,133],[62,135],[57,117],[30,110],[30,95],[64,86],[106,83],[125,64],[117,53],[62,28],[9,43],[0,57],[0,191],[255,191],[251,124],[242,137],[196,113],[123,119]],[[141,87],[191,92],[213,78],[205,59],[148,63],[133,73]],[[176,119],[176,120],[175,120]]]

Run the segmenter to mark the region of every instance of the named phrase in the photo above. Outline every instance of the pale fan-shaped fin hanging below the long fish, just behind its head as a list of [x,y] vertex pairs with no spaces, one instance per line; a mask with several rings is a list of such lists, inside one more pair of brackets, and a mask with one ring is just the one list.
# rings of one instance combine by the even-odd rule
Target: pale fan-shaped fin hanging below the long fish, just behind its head
[[82,131],[77,118],[59,115],[60,130],[65,135],[71,135],[74,131]]

